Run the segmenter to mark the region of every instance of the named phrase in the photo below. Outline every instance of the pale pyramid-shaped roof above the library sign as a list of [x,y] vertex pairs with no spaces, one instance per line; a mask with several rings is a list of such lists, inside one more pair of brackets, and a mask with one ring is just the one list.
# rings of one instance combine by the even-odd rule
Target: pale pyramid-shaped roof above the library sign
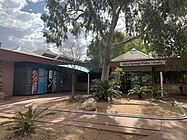
[[118,61],[141,60],[141,59],[153,59],[153,57],[133,48],[130,51],[112,59],[111,61],[118,62]]

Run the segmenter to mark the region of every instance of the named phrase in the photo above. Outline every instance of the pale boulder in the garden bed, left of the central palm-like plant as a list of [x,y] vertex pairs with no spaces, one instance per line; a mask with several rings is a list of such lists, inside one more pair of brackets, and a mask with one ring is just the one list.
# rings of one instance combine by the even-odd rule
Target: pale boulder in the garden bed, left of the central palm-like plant
[[96,110],[96,101],[94,98],[89,98],[81,106],[82,110],[86,111],[95,111]]

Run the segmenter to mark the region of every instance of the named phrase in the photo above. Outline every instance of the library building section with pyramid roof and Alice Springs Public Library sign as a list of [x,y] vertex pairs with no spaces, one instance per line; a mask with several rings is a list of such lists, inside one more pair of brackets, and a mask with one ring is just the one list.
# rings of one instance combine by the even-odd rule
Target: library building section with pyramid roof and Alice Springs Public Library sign
[[111,61],[125,72],[122,90],[135,85],[160,84],[169,93],[187,94],[187,59],[158,59],[132,49]]

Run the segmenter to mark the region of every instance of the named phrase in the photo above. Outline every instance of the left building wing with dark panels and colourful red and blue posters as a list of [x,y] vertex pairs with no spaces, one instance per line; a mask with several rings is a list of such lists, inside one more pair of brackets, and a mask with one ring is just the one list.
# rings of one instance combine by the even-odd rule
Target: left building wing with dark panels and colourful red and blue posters
[[[71,78],[66,71],[71,69],[62,67],[69,63],[71,64],[72,60],[37,55],[22,47],[14,50],[1,48],[0,90],[5,97],[69,91]],[[87,90],[87,74],[75,71],[84,77],[78,78],[81,82],[76,88]]]

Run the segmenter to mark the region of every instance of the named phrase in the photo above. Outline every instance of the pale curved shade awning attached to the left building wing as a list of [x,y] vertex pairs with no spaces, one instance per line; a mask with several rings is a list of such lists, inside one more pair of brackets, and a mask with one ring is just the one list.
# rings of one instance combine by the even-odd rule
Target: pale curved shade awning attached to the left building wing
[[59,67],[64,67],[64,68],[69,68],[69,69],[75,69],[78,71],[82,71],[85,73],[89,73],[92,68],[90,67],[84,67],[84,66],[79,66],[79,65],[73,65],[73,64],[68,64],[68,65],[58,65]]

